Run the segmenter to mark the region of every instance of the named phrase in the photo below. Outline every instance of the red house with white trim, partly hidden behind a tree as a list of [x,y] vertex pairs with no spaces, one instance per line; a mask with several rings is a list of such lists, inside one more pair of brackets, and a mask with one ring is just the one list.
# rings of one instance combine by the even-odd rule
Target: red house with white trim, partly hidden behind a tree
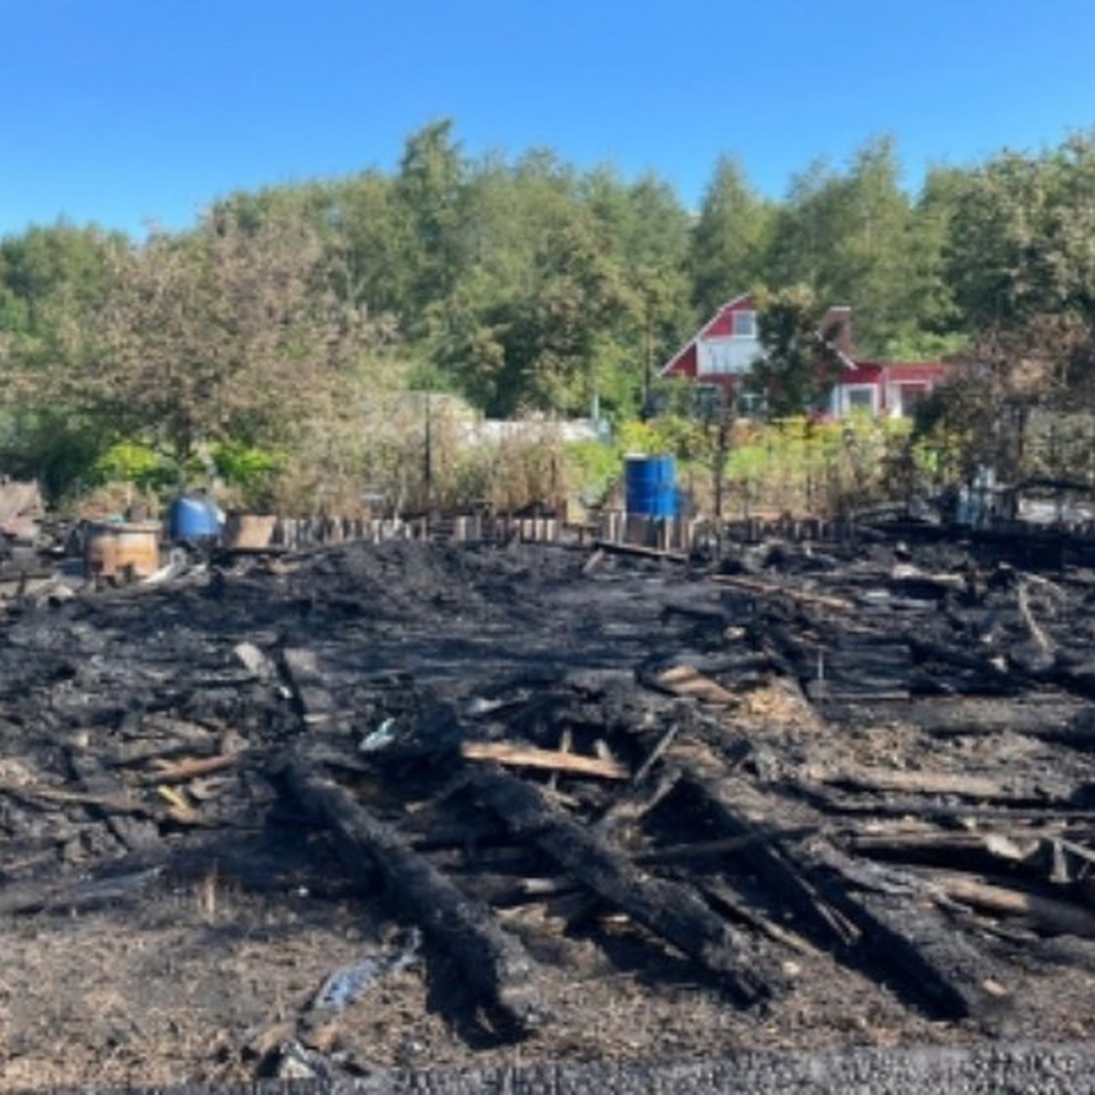
[[[855,357],[850,308],[830,308],[822,327],[834,331],[833,346],[844,371],[830,396],[835,417],[866,412],[900,418],[945,376],[942,361],[880,361]],[[662,377],[688,377],[710,388],[736,388],[764,351],[752,293],[728,300],[661,368]],[[746,396],[745,410],[750,410]]]

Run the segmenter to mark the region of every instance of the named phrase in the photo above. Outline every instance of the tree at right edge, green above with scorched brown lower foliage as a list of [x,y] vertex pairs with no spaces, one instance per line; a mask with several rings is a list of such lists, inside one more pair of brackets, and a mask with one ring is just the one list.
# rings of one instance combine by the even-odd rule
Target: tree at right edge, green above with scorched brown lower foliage
[[971,345],[936,425],[959,439],[966,473],[1024,474],[1035,417],[1095,400],[1093,239],[1090,135],[1037,155],[1003,152],[957,188],[947,275]]

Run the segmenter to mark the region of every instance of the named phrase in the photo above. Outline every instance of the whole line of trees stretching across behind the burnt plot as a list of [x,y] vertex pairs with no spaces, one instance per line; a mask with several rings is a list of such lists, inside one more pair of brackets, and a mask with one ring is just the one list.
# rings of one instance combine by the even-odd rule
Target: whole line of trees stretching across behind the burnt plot
[[55,494],[127,445],[180,475],[284,468],[333,459],[370,413],[390,427],[415,390],[623,420],[754,288],[851,304],[863,355],[966,362],[963,414],[944,417],[982,448],[990,418],[1086,399],[1093,137],[935,168],[917,193],[901,177],[890,138],[810,164],[781,200],[724,157],[693,211],[653,173],[471,158],[442,120],[392,172],[232,194],[186,231],[33,226],[0,240],[0,461]]

